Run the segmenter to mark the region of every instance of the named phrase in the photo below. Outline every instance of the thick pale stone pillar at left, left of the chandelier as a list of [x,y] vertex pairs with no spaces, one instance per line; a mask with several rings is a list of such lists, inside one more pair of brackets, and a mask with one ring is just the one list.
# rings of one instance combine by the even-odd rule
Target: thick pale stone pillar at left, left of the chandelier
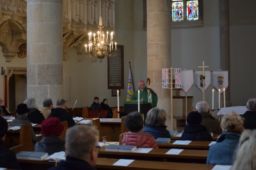
[[27,1],[27,97],[39,108],[62,97],[62,9],[62,0]]

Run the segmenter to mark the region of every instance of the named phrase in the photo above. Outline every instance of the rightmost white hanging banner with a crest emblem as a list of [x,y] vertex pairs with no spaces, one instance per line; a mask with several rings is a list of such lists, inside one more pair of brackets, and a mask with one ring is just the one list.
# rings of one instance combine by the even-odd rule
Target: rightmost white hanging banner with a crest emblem
[[223,89],[228,88],[228,71],[212,71],[213,88],[223,93]]

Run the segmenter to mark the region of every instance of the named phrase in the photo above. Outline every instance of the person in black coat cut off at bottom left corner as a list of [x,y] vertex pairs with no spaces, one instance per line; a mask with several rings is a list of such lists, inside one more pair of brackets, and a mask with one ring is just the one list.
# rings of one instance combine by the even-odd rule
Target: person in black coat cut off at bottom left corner
[[8,124],[6,120],[0,117],[0,167],[5,167],[7,169],[20,169],[15,153],[9,148],[4,148],[2,146],[7,129]]

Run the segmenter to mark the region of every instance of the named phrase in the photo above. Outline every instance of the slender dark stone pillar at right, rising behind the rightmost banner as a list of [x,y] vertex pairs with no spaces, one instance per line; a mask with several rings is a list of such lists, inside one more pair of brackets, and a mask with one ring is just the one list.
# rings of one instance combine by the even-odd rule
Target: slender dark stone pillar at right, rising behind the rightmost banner
[[228,89],[226,90],[226,107],[229,107],[232,104],[230,101],[229,0],[220,0],[220,68],[223,71],[229,71]]

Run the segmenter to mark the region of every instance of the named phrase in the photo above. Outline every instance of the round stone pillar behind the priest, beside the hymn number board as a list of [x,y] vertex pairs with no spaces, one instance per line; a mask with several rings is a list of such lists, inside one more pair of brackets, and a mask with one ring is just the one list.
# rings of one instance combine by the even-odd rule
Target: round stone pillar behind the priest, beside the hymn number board
[[[162,89],[162,68],[170,68],[171,13],[170,0],[147,0],[147,74],[157,96],[157,106],[167,112],[166,125],[171,125],[171,90]],[[175,129],[175,127],[174,127]]]

